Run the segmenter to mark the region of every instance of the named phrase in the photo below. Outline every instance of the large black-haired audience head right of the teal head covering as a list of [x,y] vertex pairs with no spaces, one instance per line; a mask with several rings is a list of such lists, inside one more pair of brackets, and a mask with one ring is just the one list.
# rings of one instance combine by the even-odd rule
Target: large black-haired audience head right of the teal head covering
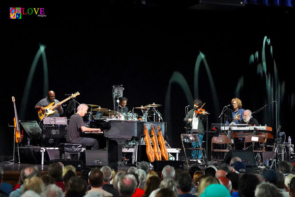
[[258,177],[252,173],[244,173],[239,179],[238,194],[240,197],[254,197],[256,186],[260,183]]

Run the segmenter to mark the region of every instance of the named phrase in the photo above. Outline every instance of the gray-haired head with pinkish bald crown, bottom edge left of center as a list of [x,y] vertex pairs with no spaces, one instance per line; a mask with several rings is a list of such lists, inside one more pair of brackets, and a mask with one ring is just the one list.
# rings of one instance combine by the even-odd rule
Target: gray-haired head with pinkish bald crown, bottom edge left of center
[[132,197],[137,186],[137,181],[134,175],[126,174],[121,177],[118,182],[120,197]]

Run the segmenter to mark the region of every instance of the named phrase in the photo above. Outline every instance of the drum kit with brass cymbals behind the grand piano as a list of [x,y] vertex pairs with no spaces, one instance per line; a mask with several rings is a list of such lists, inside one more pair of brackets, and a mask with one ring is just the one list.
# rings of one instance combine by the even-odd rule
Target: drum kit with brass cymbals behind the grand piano
[[[148,117],[151,117],[150,115],[148,115],[149,111],[153,112],[153,117],[154,117],[154,121],[163,121],[162,116],[160,114],[160,112],[156,109],[156,107],[160,107],[162,106],[161,104],[148,104],[145,106],[141,106],[141,107],[134,107],[134,109],[141,109],[143,115],[142,116],[138,116],[138,113],[134,113],[133,110],[132,112],[128,112],[128,113],[118,113],[117,111],[112,111],[110,109],[107,108],[101,108],[101,106],[99,105],[93,105],[93,104],[87,104],[90,108],[90,112],[89,112],[89,121],[93,120],[93,119],[101,119],[101,118],[109,118],[109,117],[113,117],[113,116],[117,116],[119,120],[122,121],[142,121],[142,122],[148,122]],[[96,107],[96,108],[94,108]],[[93,114],[96,113],[96,116],[93,116]],[[157,120],[156,120],[156,116],[157,116]]]

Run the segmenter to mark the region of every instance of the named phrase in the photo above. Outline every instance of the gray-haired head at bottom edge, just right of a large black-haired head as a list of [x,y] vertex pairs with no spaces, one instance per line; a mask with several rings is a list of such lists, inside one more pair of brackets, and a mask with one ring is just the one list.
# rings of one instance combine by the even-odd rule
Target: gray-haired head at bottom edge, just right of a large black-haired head
[[264,182],[256,187],[255,197],[283,197],[283,195],[273,184]]

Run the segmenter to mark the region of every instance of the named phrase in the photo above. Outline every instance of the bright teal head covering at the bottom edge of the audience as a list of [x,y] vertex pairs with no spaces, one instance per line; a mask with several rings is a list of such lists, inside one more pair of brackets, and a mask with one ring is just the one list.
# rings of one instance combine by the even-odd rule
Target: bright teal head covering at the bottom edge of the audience
[[200,197],[231,197],[228,189],[221,184],[208,185]]

